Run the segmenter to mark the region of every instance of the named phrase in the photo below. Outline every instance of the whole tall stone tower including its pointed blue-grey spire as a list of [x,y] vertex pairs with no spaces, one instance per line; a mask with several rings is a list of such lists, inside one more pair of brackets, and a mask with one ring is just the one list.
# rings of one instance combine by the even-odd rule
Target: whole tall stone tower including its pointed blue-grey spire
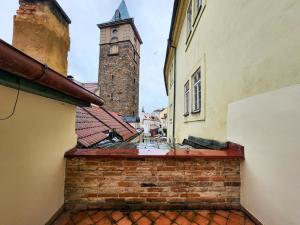
[[[139,68],[142,39],[125,1],[101,30],[99,85],[105,108],[129,121],[138,118]],[[132,117],[132,118],[129,118]],[[128,121],[128,122],[129,122]]]

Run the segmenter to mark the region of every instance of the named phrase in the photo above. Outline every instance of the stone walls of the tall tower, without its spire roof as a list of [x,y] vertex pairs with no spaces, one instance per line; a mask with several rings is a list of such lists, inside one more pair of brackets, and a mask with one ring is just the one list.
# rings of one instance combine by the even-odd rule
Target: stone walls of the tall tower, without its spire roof
[[[105,100],[106,109],[124,116],[138,116],[139,43],[132,43],[134,32],[130,24],[119,26],[118,41],[110,43],[112,29],[101,30],[100,96]],[[118,53],[111,54],[113,45],[118,46]]]

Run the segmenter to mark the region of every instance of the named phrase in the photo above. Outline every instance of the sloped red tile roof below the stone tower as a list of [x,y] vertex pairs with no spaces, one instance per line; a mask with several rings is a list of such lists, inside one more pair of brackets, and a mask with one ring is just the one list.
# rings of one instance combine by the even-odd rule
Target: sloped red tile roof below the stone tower
[[76,133],[78,143],[84,147],[90,147],[108,137],[109,130],[115,129],[123,140],[127,140],[136,134],[136,130],[125,123],[122,117],[115,112],[108,112],[102,107],[77,108]]

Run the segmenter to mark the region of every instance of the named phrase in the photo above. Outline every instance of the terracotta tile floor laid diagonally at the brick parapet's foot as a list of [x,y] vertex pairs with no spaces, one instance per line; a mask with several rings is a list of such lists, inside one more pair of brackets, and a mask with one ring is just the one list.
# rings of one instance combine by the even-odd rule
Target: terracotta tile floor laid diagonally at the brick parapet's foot
[[63,214],[53,225],[255,225],[236,210],[81,211]]

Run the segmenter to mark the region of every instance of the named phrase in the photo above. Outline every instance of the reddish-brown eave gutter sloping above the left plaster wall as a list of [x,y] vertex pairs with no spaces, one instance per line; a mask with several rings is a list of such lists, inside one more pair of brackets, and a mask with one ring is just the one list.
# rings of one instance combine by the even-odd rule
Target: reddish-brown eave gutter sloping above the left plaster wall
[[[104,104],[103,99],[99,96],[84,89],[1,39],[0,70],[15,77],[25,79],[29,83],[50,88],[63,93],[65,96],[85,102],[85,105],[93,103],[101,106]],[[35,86],[33,85],[33,87]]]

